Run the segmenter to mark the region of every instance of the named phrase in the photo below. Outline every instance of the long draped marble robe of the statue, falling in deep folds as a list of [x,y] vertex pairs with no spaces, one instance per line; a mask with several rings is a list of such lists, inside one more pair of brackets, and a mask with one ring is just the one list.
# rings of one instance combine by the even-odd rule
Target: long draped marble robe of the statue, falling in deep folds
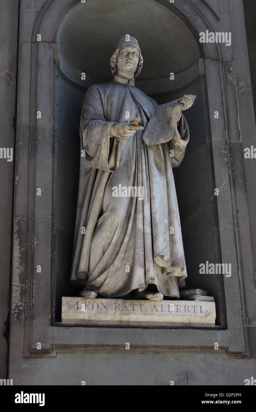
[[[170,105],[160,110],[131,82],[88,89],[71,283],[106,297],[154,284],[165,296],[179,297],[178,281],[187,272],[172,167],[184,157],[189,131],[182,105],[171,115]],[[127,121],[127,112],[129,121],[141,119],[144,131],[111,137],[111,126]],[[113,197],[114,187],[143,187],[143,199]]]

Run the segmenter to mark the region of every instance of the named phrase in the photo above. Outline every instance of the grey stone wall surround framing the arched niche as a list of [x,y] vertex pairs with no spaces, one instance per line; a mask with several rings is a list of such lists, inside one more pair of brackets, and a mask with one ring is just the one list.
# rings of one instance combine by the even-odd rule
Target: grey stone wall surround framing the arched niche
[[[74,7],[68,10],[71,3]],[[62,284],[62,279],[67,281],[67,269],[63,266],[68,265],[68,259],[63,259],[63,256],[71,241],[70,235],[64,239],[59,231],[60,242],[58,249],[55,248],[57,67],[56,64],[51,64],[54,47],[49,44],[41,44],[38,47],[35,35],[41,33],[42,42],[57,43],[62,21],[68,12],[74,12],[76,4],[71,0],[21,1],[19,56],[21,76],[18,89],[17,184],[14,205],[15,238],[9,365],[9,378],[16,379],[14,384],[67,385],[78,382],[77,384],[80,385],[81,381],[85,380],[86,384],[96,385],[169,385],[169,382],[174,380],[177,385],[228,386],[244,385],[244,379],[255,377],[255,361],[249,357],[256,354],[253,262],[253,248],[255,251],[256,245],[256,164],[254,159],[243,161],[241,155],[244,147],[254,144],[252,143],[253,136],[256,134],[254,105],[242,1],[227,0],[218,3],[218,10],[214,7],[216,3],[210,0],[207,2],[175,0],[175,5],[170,5],[166,1],[160,6],[171,7],[176,13],[177,23],[182,14],[182,21],[189,22],[188,27],[197,40],[199,33],[206,28],[214,31],[232,31],[231,47],[226,47],[224,44],[199,45],[201,50],[199,57],[205,63],[205,72],[189,87],[193,88],[196,85],[201,89],[200,98],[204,117],[200,122],[201,133],[197,133],[194,140],[201,142],[198,143],[197,150],[198,153],[201,150],[205,163],[200,169],[201,173],[196,176],[198,180],[202,178],[203,181],[208,181],[205,190],[209,196],[207,197],[205,191],[202,191],[198,203],[191,197],[193,207],[189,211],[185,203],[183,206],[179,205],[181,215],[190,219],[184,229],[184,244],[185,249],[188,250],[187,265],[192,265],[196,270],[197,262],[201,257],[202,260],[211,258],[213,262],[214,259],[217,262],[221,262],[222,259],[223,262],[232,263],[232,276],[226,278],[201,275],[199,285],[187,286],[208,290],[214,298],[218,291],[219,303],[216,303],[219,306],[217,312],[220,326],[210,330],[200,328],[155,330],[154,328],[87,328],[70,325],[63,327],[61,322],[55,321],[55,268],[59,267],[56,283],[58,286]],[[154,7],[157,8],[157,4],[159,3],[155,2]],[[112,28],[112,35],[115,35],[113,23],[114,20],[111,20],[109,28]],[[122,29],[125,28],[127,26],[124,23]],[[174,34],[175,25],[172,25],[172,29]],[[132,22],[129,22],[128,33],[131,30]],[[161,34],[161,31],[159,33]],[[90,33],[81,30],[80,38],[88,42]],[[148,44],[150,41],[155,44],[154,37],[150,38]],[[37,60],[37,53],[43,53],[43,58],[39,55]],[[170,61],[172,59],[175,59],[175,53],[170,56]],[[44,61],[48,64],[43,66],[44,70],[39,67],[37,72],[37,61],[41,61],[42,65]],[[39,79],[38,73],[40,73]],[[45,118],[45,122],[40,124],[40,127],[45,126],[45,129],[38,129],[39,132],[45,130],[47,139],[44,139],[44,134],[43,136],[41,134],[38,145],[35,131],[37,91],[41,105],[47,103],[47,114],[50,114]],[[175,95],[178,91],[172,89],[172,92],[173,98],[179,97]],[[196,91],[195,94],[198,99],[200,93]],[[75,99],[75,95],[73,97]],[[165,103],[168,101],[164,100],[167,97],[163,94],[159,97],[158,103]],[[195,119],[199,113],[199,106],[197,109],[193,113]],[[69,107],[66,110],[68,112]],[[217,122],[212,117],[215,110],[219,110]],[[191,124],[190,119],[189,122]],[[52,134],[48,132],[49,127],[52,127]],[[39,159],[41,153],[49,157],[53,155],[53,161],[50,160],[47,167],[42,162],[37,165],[36,159]],[[191,161],[193,156],[195,160],[198,158],[198,153],[196,149],[191,151]],[[183,171],[180,169],[180,179],[182,173],[186,173],[186,164],[182,164],[181,167],[184,169]],[[193,171],[196,173],[196,162],[193,164]],[[47,183],[47,195],[42,200],[41,206],[38,203],[39,199],[36,199],[36,208],[40,213],[36,219],[33,207],[35,178],[37,179],[35,173],[41,176],[41,181],[44,179]],[[208,179],[205,175],[208,175]],[[177,174],[175,179],[178,199],[180,196],[179,202],[189,203],[186,193],[182,193],[177,185],[179,181]],[[219,196],[211,201],[215,187],[223,187],[223,189]],[[43,210],[43,204],[46,205],[50,215]],[[186,246],[186,242],[190,245]],[[202,255],[200,255],[201,250]],[[209,256],[210,258],[207,259]],[[36,264],[40,260],[43,260],[45,271],[41,274],[35,272]],[[193,272],[192,276],[196,280],[196,272]],[[58,293],[60,303],[60,294],[66,295],[66,293],[65,290]],[[40,352],[36,349],[37,342],[42,343]],[[130,342],[130,350],[125,349],[126,342]],[[218,351],[213,349],[214,342],[219,343]],[[193,353],[195,351],[199,353]],[[88,375],[85,374],[85,370],[88,371]]]

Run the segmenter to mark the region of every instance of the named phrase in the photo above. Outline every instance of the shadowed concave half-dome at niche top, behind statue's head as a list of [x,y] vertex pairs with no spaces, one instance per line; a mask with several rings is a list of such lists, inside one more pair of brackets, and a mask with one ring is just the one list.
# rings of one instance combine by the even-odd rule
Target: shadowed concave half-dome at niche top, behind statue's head
[[67,14],[58,43],[62,58],[75,68],[111,78],[110,56],[125,34],[136,37],[141,47],[139,80],[180,73],[201,57],[186,24],[155,0],[87,0]]

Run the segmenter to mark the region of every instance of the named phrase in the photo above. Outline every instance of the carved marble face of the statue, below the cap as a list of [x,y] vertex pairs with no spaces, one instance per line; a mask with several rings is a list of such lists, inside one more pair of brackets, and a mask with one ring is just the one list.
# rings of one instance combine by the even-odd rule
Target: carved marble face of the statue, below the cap
[[117,60],[119,75],[133,76],[138,66],[139,51],[134,46],[122,46]]

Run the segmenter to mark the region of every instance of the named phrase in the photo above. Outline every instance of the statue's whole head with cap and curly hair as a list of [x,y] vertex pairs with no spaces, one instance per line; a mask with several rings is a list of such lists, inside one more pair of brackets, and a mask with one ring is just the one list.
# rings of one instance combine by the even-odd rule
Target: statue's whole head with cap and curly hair
[[111,73],[132,78],[141,73],[143,58],[137,40],[125,35],[120,38],[110,59]]

